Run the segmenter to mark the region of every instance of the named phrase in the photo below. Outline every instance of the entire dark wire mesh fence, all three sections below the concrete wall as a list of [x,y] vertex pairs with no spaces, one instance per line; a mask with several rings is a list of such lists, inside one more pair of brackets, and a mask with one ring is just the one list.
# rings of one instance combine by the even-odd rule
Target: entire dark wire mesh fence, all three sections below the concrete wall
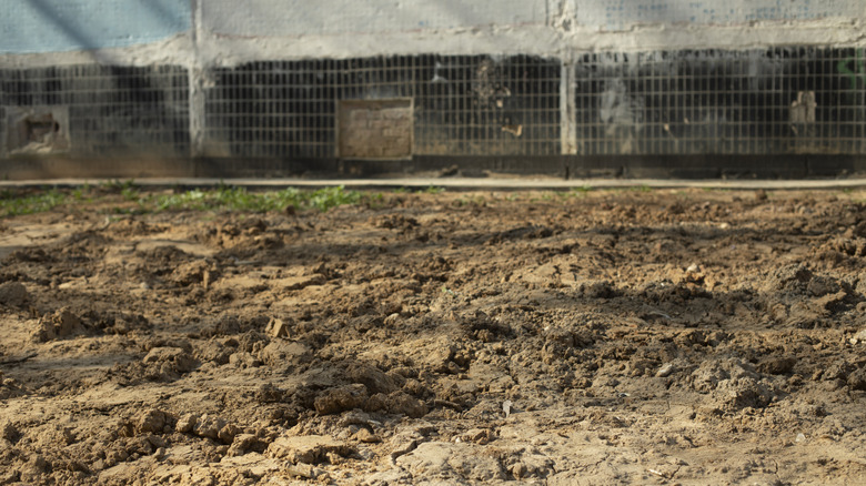
[[[204,112],[195,114],[203,121],[203,153],[191,151],[185,68],[0,69],[0,156],[531,158],[561,154],[563,134],[578,156],[866,153],[863,48],[584,53],[568,69],[574,87],[562,100],[562,61],[532,55],[210,68]],[[339,117],[345,102],[363,100],[403,107],[402,114],[387,115],[401,125],[383,125],[377,134],[376,123],[389,120],[372,119],[384,112]],[[366,125],[341,128],[364,117]],[[407,150],[361,146],[403,144],[406,133]]]

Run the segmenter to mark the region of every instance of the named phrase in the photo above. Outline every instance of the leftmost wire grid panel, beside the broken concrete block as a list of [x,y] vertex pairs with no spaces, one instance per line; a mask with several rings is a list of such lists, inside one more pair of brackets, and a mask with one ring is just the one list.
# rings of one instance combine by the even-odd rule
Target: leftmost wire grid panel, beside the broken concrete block
[[[0,104],[68,113],[73,154],[189,156],[189,80],[175,65],[0,70]],[[8,119],[8,117],[3,117]]]

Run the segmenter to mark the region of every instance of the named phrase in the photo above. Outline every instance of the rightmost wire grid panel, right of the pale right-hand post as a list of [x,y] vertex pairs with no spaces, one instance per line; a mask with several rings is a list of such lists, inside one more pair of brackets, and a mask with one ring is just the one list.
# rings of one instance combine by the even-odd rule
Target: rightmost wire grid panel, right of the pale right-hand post
[[587,53],[581,154],[866,153],[862,49]]

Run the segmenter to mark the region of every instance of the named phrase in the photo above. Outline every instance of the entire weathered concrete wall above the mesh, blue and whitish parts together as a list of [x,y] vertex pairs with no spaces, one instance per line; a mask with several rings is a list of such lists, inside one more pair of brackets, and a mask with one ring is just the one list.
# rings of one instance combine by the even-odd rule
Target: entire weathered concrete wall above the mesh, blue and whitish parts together
[[4,0],[0,68],[866,45],[863,0]]

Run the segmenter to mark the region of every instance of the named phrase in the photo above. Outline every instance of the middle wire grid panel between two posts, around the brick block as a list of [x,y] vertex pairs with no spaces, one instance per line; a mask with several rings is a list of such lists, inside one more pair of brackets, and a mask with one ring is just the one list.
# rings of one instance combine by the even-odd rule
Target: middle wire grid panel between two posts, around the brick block
[[560,62],[402,55],[252,62],[212,71],[209,154],[336,156],[341,100],[414,100],[420,155],[560,153]]

